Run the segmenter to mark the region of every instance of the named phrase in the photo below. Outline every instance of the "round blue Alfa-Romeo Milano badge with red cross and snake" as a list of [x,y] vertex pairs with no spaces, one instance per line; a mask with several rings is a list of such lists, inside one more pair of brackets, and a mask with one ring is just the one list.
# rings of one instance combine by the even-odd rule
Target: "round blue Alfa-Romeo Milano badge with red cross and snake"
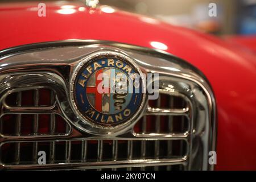
[[101,129],[98,133],[118,131],[138,117],[145,100],[143,84],[141,70],[129,57],[113,51],[97,52],[73,72],[72,105],[82,122]]

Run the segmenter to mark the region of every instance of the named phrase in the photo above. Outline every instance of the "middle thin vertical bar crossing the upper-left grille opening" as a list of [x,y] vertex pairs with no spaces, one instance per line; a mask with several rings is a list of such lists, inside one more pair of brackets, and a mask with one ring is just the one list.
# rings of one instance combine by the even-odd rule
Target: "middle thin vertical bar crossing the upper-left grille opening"
[[[39,90],[36,89],[34,92],[34,106],[38,107],[39,104]],[[39,115],[34,114],[34,123],[33,123],[33,134],[38,135],[38,122],[39,122]],[[38,142],[33,142],[33,162],[37,163],[38,158]]]

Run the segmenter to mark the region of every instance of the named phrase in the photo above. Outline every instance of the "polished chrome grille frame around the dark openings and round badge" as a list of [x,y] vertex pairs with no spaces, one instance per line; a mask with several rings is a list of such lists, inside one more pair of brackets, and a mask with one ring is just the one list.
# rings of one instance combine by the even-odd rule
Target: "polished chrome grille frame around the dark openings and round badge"
[[[91,133],[84,133],[74,125],[81,122],[76,113],[72,110],[69,100],[69,80],[75,66],[97,51],[114,51],[133,57],[134,62],[143,73],[159,73],[159,92],[172,96],[181,96],[189,106],[184,109],[161,109],[151,108],[144,104],[138,118],[131,127],[117,131],[116,133],[102,134],[100,136]],[[66,145],[66,159],[69,160],[70,140],[89,139],[110,139],[110,140],[185,140],[188,151],[182,159],[141,159],[112,162],[95,163],[66,163],[47,165],[5,165],[0,162],[0,168],[4,169],[67,169],[67,168],[117,168],[117,167],[143,167],[159,166],[183,163],[186,169],[213,169],[213,165],[208,164],[208,152],[215,150],[216,144],[216,106],[212,89],[207,79],[195,67],[187,62],[170,55],[169,53],[128,44],[114,43],[100,40],[66,40],[60,42],[49,42],[30,44],[0,51],[0,105],[2,105],[1,117],[6,113],[56,113],[65,118],[69,126],[73,126],[66,135],[48,136],[19,136],[19,125],[16,130],[18,136],[4,136],[0,134],[0,147],[6,142],[51,141],[51,158],[54,159],[55,140],[68,140]],[[169,88],[172,86],[172,89]],[[20,92],[27,89],[51,88],[55,92],[56,102],[52,107],[8,107],[4,98],[12,92]],[[68,99],[67,99],[68,98]],[[147,98],[146,98],[147,101]],[[174,133],[171,129],[169,133],[143,133],[137,134],[132,127],[139,118],[147,114],[159,115],[185,115],[189,118],[189,129],[185,133]],[[54,120],[52,118],[52,130],[54,130]],[[19,119],[17,121],[19,123]],[[170,121],[171,122],[171,121]],[[81,123],[82,126],[82,123]],[[143,123],[143,130],[146,127],[146,120]],[[143,131],[144,132],[144,131]],[[87,144],[83,143],[83,155],[81,158],[86,161]],[[132,145],[130,144],[130,147]],[[171,146],[168,146],[171,148]],[[201,147],[200,157],[198,147]],[[142,146],[142,157],[145,148]],[[115,149],[117,150],[117,149]],[[158,155],[159,148],[155,148],[155,155]],[[19,150],[17,150],[19,153]],[[101,158],[101,150],[98,151],[98,158]],[[19,160],[17,154],[17,161]],[[132,154],[131,154],[132,155]],[[171,155],[171,154],[170,154]],[[113,153],[115,159],[116,153]],[[195,161],[195,158],[199,161]],[[199,166],[197,164],[200,164]]]

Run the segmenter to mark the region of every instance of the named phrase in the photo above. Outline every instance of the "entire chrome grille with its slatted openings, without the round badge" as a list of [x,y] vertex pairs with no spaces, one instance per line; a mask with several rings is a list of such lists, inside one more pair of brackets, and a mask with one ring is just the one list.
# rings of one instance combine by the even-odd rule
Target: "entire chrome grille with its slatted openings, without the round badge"
[[[73,63],[93,51],[109,49],[101,43],[134,57],[143,71],[159,73],[160,97],[148,102],[133,128],[118,135],[87,134],[71,124],[77,118],[67,99],[69,72]],[[67,42],[62,46],[51,48],[48,45],[46,49],[25,50],[19,55],[0,58],[2,63],[9,63],[8,67],[0,69],[0,167],[212,169],[208,164],[208,151],[214,150],[215,144],[214,98],[207,82],[191,69],[191,65],[171,55],[125,44],[85,41]],[[6,82],[11,86],[3,84]],[[40,89],[52,90],[50,105],[40,105]],[[32,106],[22,105],[22,93],[27,90],[33,92]],[[8,105],[5,98],[15,92],[16,105]],[[15,115],[15,119],[11,119],[15,129],[6,134],[4,117],[8,114]],[[39,132],[42,114],[49,115],[48,132],[44,133]],[[22,133],[22,115],[32,115],[28,125],[32,128],[31,133]],[[65,130],[61,132],[57,132],[57,117],[65,123]],[[40,150],[47,152],[46,165],[36,163]]]

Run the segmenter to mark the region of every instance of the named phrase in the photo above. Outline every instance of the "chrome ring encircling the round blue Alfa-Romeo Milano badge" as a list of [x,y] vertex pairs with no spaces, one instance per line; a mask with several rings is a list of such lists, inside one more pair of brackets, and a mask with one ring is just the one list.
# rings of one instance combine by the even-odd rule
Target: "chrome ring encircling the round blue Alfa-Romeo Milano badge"
[[[116,126],[101,126],[97,125],[96,123],[93,123],[89,121],[88,118],[86,118],[77,108],[76,101],[75,101],[75,93],[74,93],[74,87],[75,87],[75,81],[77,78],[77,74],[80,72],[80,70],[84,67],[84,65],[88,64],[90,61],[94,59],[100,59],[101,57],[117,57],[123,60],[126,60],[128,63],[132,64],[133,67],[136,69],[136,71],[139,73],[141,77],[143,77],[141,69],[137,66],[137,64],[131,59],[129,56],[126,56],[125,54],[118,52],[117,49],[113,50],[111,48],[108,49],[101,49],[100,51],[93,52],[92,54],[88,55],[73,68],[73,71],[71,72],[71,79],[69,81],[69,97],[71,98],[71,105],[73,111],[77,114],[77,116],[80,119],[80,122],[75,122],[73,125],[75,125],[78,129],[85,131],[90,134],[94,135],[110,135],[114,133],[122,133],[124,131],[127,131],[133,127],[133,123],[137,122],[139,115],[141,114],[141,111],[144,108],[144,103],[146,100],[146,94],[142,93],[142,102],[138,107],[138,112],[135,113],[131,118],[127,119],[127,121],[116,125]],[[145,86],[144,82],[145,78],[142,78],[142,86]],[[82,122],[82,123],[81,123]]]

